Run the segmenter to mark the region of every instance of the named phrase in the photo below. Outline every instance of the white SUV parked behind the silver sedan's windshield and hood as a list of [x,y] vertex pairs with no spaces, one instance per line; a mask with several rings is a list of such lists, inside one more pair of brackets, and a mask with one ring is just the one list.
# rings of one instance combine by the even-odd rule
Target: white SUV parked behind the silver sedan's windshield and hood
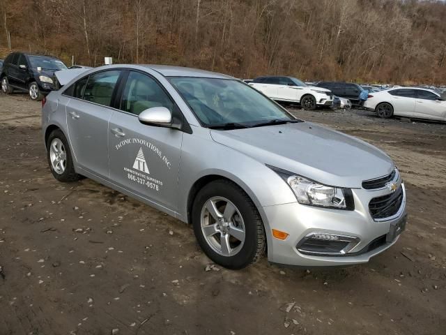
[[294,77],[258,77],[249,85],[272,100],[300,103],[306,110],[331,106],[333,103],[333,94],[329,89],[308,86]]

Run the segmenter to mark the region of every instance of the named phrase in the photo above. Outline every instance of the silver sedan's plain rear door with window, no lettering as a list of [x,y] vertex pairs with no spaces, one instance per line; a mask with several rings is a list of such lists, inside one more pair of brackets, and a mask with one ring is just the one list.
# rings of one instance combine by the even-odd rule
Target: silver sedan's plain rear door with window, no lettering
[[93,73],[78,80],[66,107],[68,137],[79,168],[109,177],[108,124],[121,70]]

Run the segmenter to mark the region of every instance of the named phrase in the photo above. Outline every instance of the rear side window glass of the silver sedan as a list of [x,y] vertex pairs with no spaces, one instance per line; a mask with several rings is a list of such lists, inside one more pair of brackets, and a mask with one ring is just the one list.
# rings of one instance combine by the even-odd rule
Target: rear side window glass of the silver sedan
[[[75,94],[81,94],[84,100],[91,103],[109,106],[112,103],[113,90],[120,73],[121,71],[119,70],[112,70],[90,75],[89,80],[86,82],[84,94],[82,95],[82,86],[79,84],[82,80],[77,82],[79,84],[79,92],[75,92]],[[75,91],[78,89],[77,84]]]

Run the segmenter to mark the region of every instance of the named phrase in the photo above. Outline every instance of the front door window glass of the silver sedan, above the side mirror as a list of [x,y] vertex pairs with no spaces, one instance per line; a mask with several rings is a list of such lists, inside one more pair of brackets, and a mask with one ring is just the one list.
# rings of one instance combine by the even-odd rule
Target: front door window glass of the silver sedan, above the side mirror
[[151,107],[166,107],[172,113],[174,112],[174,103],[153,78],[130,71],[120,109],[139,115],[143,110]]

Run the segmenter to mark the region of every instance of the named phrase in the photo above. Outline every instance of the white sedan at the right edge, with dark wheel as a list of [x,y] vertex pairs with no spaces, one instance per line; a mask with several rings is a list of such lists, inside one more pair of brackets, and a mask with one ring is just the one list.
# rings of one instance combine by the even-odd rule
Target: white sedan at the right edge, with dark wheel
[[385,119],[401,116],[446,121],[446,101],[431,89],[398,87],[374,92],[364,107]]

